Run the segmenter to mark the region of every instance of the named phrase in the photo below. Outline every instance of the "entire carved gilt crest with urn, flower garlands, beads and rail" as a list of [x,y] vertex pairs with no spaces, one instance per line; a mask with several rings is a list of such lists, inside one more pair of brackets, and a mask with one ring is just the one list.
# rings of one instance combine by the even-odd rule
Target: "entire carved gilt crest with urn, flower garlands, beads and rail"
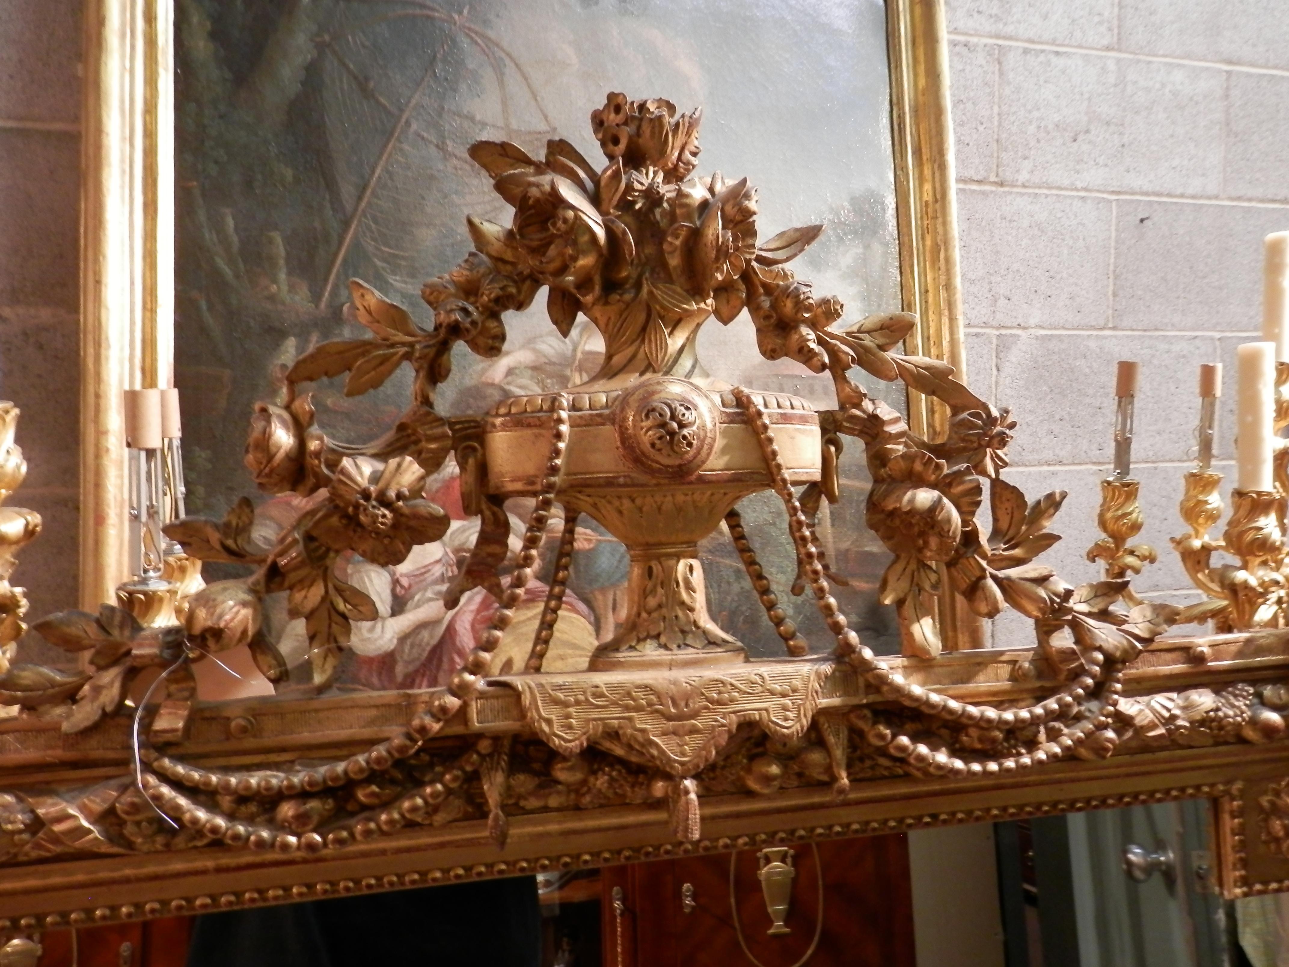
[[[1154,556],[1127,544],[1141,527],[1134,482],[1107,489],[1110,536],[1092,552],[1106,579],[1071,587],[1036,561],[1060,539],[1048,526],[1065,494],[1031,502],[1003,478],[1016,428],[1008,411],[977,397],[947,364],[898,352],[911,315],[847,321],[837,298],[788,267],[820,226],[762,239],[755,188],[697,174],[697,110],[615,93],[592,112],[592,128],[601,165],[566,141],[550,141],[540,160],[505,142],[470,148],[514,214],[509,226],[469,219],[474,250],[424,284],[432,329],[351,281],[347,311],[369,338],[295,360],[286,400],[258,406],[246,445],[260,490],[309,498],[309,509],[268,548],[253,539],[249,500],[222,522],[168,525],[182,624],[157,627],[165,609],[126,597],[134,614],[104,605],[97,615],[35,623],[82,670],[9,664],[26,602],[21,589],[0,588],[0,703],[21,707],[0,725],[0,864],[71,864],[57,874],[70,879],[49,888],[55,899],[0,896],[0,912],[30,914],[26,927],[57,926],[741,848],[776,834],[781,842],[1219,797],[1232,788],[1223,770],[1236,749],[1271,749],[1283,737],[1285,634],[1161,640],[1178,609],[1130,591],[1130,575]],[[436,391],[450,378],[454,346],[498,355],[505,313],[543,289],[561,334],[579,313],[599,329],[599,373],[567,392],[441,416]],[[831,378],[835,409],[706,374],[699,327],[742,309],[766,358]],[[345,376],[345,393],[361,395],[403,365],[415,373],[411,400],[384,436],[356,445],[320,429],[308,384]],[[856,367],[938,400],[947,433],[914,435],[855,382]],[[6,496],[24,464],[13,444],[17,411],[3,416]],[[875,655],[851,628],[831,594],[843,579],[816,536],[824,502],[840,499],[844,442],[864,447],[867,523],[893,556],[880,600],[897,609],[900,658]],[[352,553],[397,565],[441,538],[447,516],[423,491],[450,458],[480,527],[447,605],[482,588],[500,606],[446,689],[321,695],[352,623],[376,616],[336,561]],[[781,499],[795,548],[786,589],[771,585],[737,509],[764,490]],[[503,507],[514,498],[531,505],[517,539]],[[6,579],[39,517],[3,513]],[[543,672],[580,516],[629,551],[626,618],[586,670]],[[1262,530],[1277,529],[1274,514],[1255,516]],[[519,661],[499,667],[495,652],[561,517],[535,632]],[[1195,534],[1183,554],[1207,561],[1210,518],[1200,509],[1187,517]],[[697,543],[722,526],[782,640],[780,659],[749,660],[708,610]],[[1261,530],[1245,540],[1241,526],[1227,531],[1232,549],[1270,540]],[[1272,551],[1248,549],[1248,567],[1280,567],[1279,544]],[[197,589],[192,560],[254,572]],[[829,641],[809,642],[788,620],[785,591],[813,597]],[[320,695],[199,703],[191,665],[235,649],[284,681],[285,661],[263,633],[264,598],[278,592],[304,621]],[[945,600],[981,619],[1014,609],[1032,621],[1035,647],[941,654],[936,614]],[[1225,629],[1283,624],[1241,616],[1252,605],[1228,601]],[[1268,605],[1283,618],[1281,598],[1259,598],[1258,607]],[[155,677],[130,701],[142,674]],[[1115,765],[1132,756],[1160,765]],[[1200,777],[1174,781],[1186,763],[1199,763]],[[1076,797],[1110,775],[1123,792],[1052,803],[1039,777],[1047,774]],[[1281,854],[1285,801],[1283,783],[1258,799],[1267,815],[1261,842]],[[654,825],[663,816],[670,833]],[[788,825],[776,828],[775,816]],[[552,846],[553,837],[580,846]],[[531,852],[534,842],[548,852]],[[418,851],[432,869],[415,865]],[[388,865],[394,854],[411,865]],[[95,857],[116,857],[121,865],[103,869],[133,870],[146,884],[151,874],[129,860],[141,855],[170,857],[153,873],[183,883],[179,892],[143,896],[143,886],[137,903],[75,899],[75,878],[98,875]],[[357,875],[378,855],[389,873]],[[325,874],[302,868],[304,856]]]

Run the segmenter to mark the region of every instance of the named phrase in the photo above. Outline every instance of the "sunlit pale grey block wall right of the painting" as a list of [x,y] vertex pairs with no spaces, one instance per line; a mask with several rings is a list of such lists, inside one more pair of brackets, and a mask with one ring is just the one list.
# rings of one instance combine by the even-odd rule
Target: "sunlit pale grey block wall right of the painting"
[[[1289,4],[946,0],[969,382],[1020,420],[1009,477],[1070,491],[1049,560],[1100,536],[1116,360],[1142,362],[1134,476],[1160,562],[1148,597],[1199,598],[1168,539],[1194,460],[1197,367],[1258,337],[1262,237],[1289,230]],[[1192,629],[1194,630],[1194,629]],[[1032,642],[1016,616],[996,646]]]

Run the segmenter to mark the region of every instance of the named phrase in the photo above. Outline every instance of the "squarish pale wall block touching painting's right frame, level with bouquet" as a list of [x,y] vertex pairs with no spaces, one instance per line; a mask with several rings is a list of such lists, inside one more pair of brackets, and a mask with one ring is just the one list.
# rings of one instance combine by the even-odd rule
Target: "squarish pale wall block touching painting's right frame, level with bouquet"
[[967,325],[1109,325],[1110,213],[1106,199],[959,188]]

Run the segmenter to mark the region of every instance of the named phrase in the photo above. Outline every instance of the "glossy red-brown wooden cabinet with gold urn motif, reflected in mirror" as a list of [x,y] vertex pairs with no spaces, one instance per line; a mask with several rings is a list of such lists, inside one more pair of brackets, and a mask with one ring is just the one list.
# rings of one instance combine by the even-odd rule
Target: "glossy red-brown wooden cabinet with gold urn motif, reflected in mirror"
[[605,967],[914,967],[904,834],[786,846],[789,932],[777,935],[757,850],[605,869]]

